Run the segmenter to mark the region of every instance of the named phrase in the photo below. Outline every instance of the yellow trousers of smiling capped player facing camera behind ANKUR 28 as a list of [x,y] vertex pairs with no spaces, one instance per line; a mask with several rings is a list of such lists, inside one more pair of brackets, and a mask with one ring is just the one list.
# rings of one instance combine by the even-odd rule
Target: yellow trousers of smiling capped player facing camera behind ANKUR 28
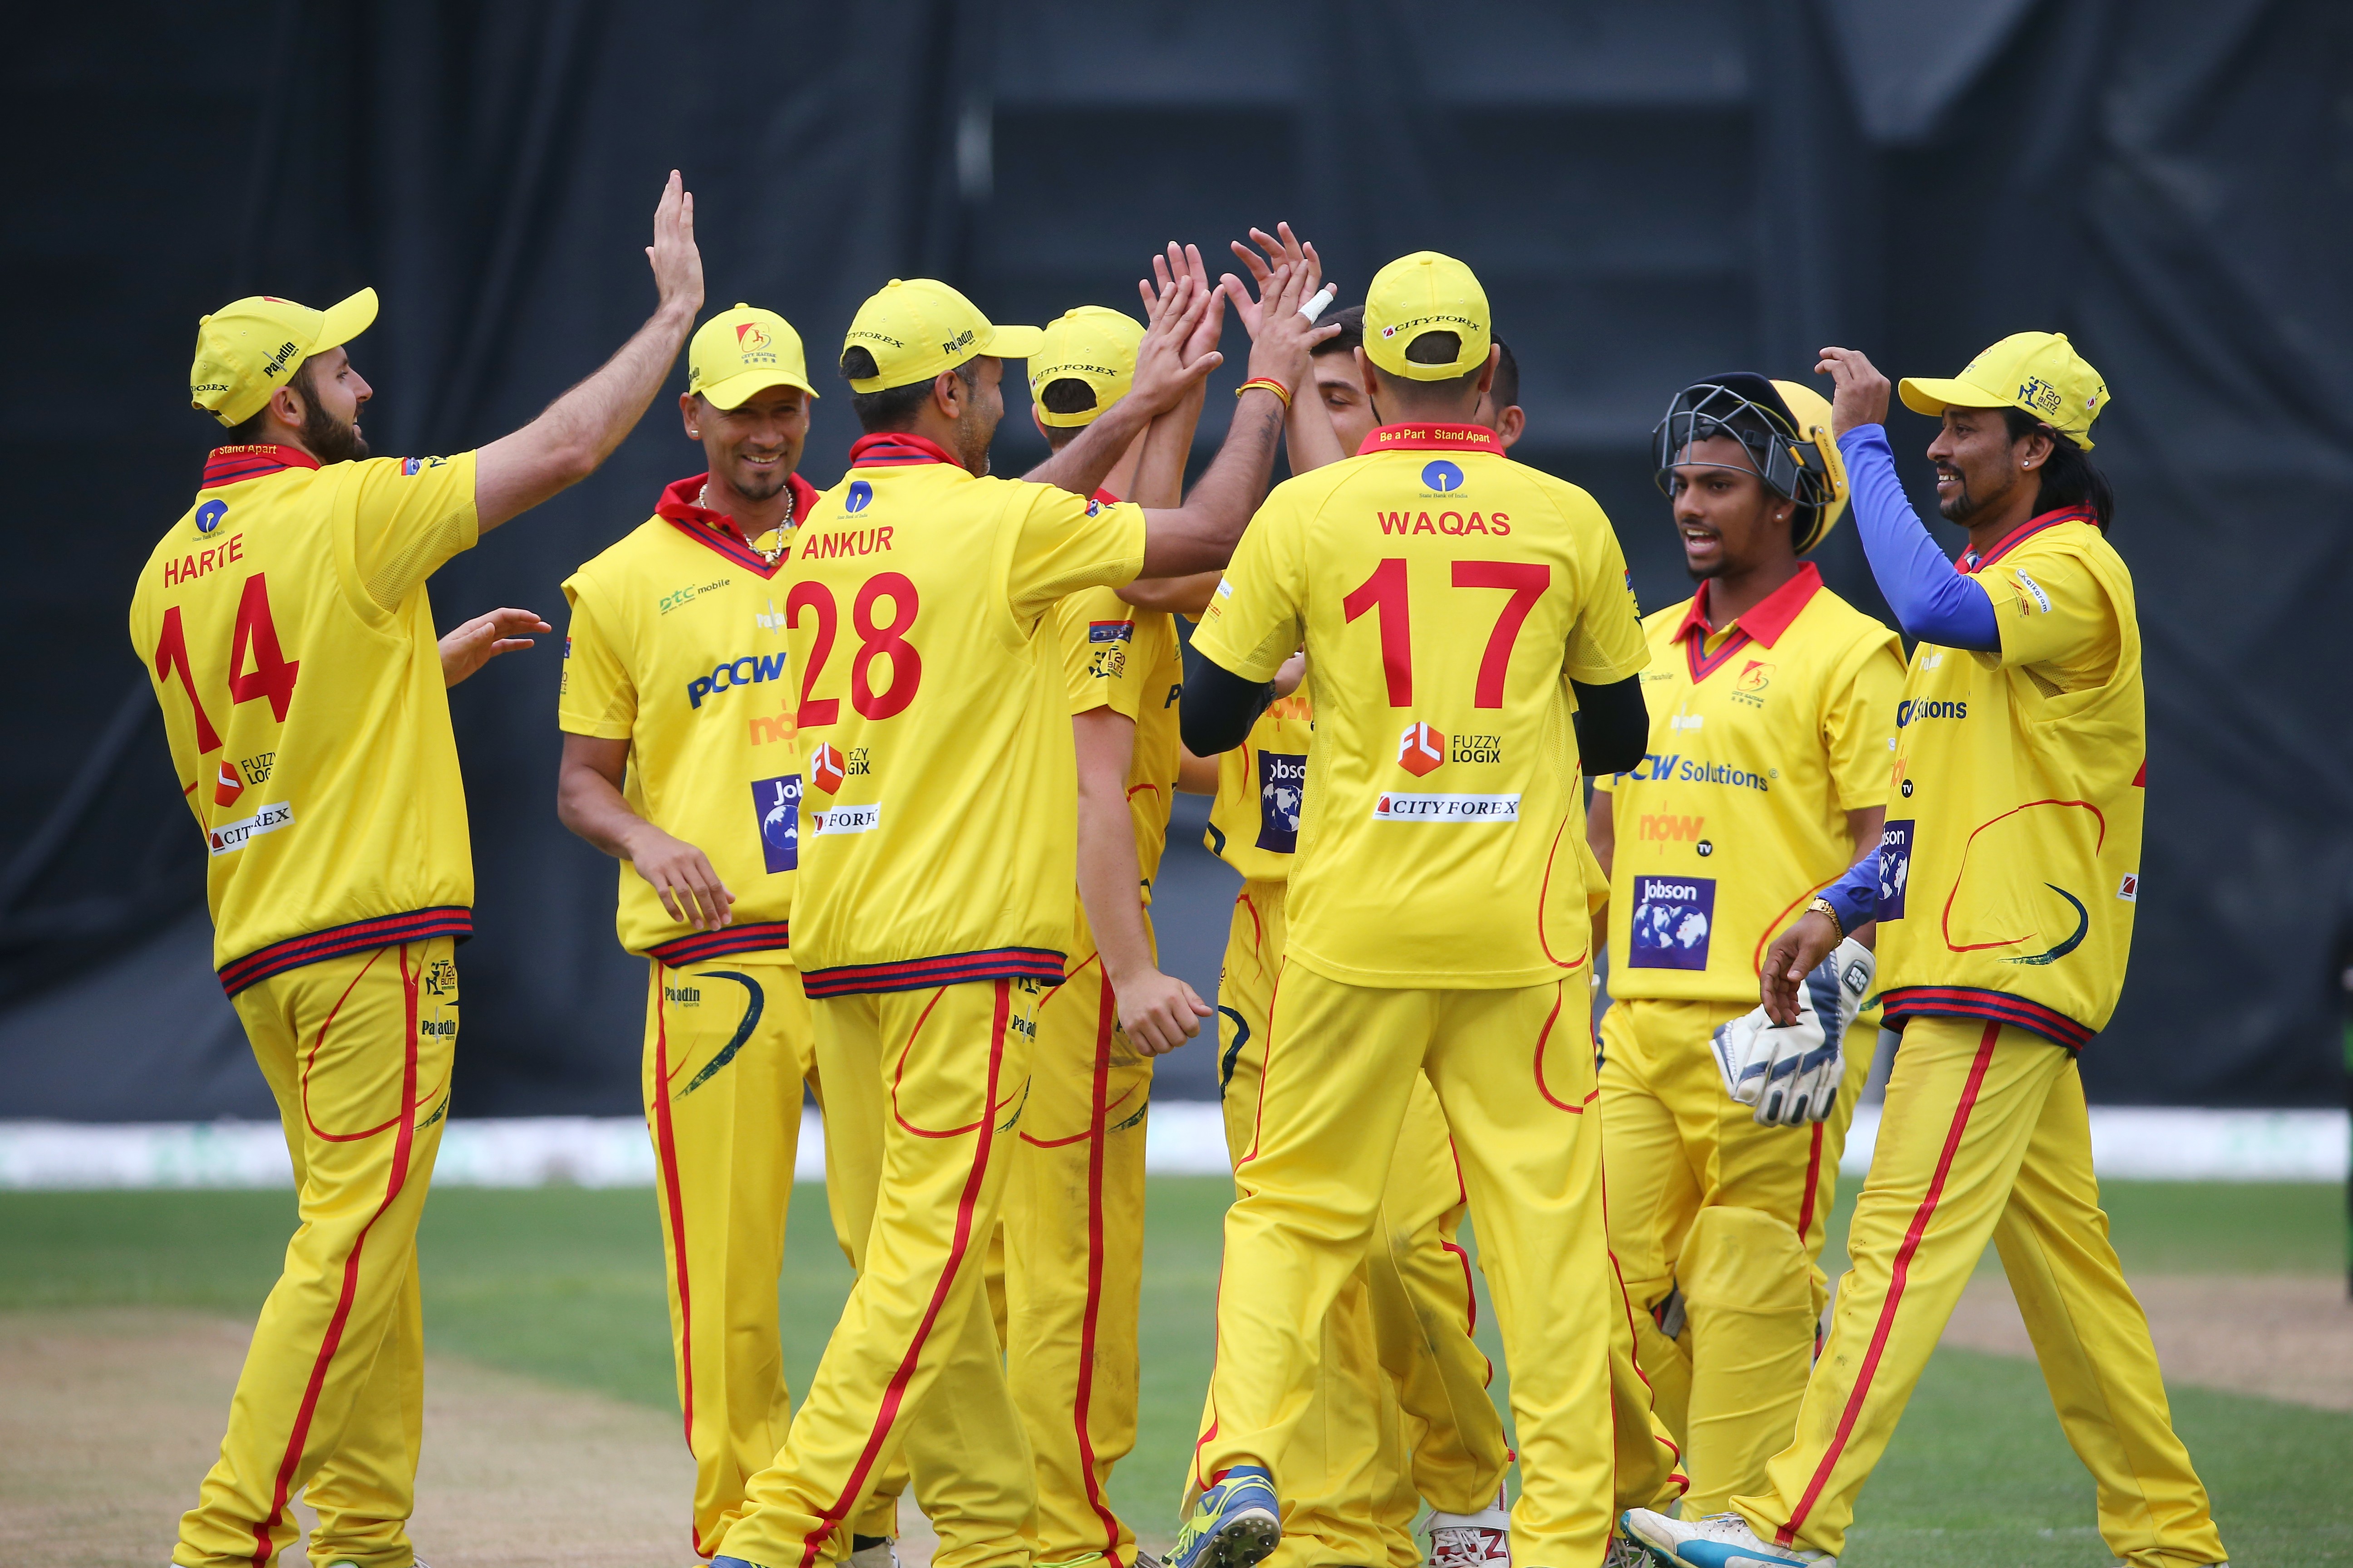
[[[809,1001],[786,954],[647,961],[645,1124],[701,1556],[718,1552],[744,1512],[744,1481],[776,1458],[793,1420],[776,1274],[812,1065]],[[889,1502],[871,1533],[889,1533]]]

